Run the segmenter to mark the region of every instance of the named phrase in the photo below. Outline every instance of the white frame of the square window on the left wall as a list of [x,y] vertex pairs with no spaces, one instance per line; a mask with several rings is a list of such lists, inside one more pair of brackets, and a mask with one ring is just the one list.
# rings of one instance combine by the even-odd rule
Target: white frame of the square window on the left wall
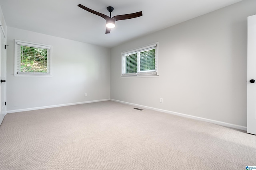
[[[20,60],[18,60],[18,45],[24,45],[29,47],[36,47],[36,48],[44,48],[49,49],[49,53],[47,56],[47,68],[49,72],[47,73],[40,73],[40,72],[26,72],[25,74],[18,74],[20,70],[18,70],[18,65],[20,65]],[[21,76],[21,77],[52,77],[52,45],[34,43],[29,41],[22,41],[22,40],[14,40],[14,76]]]

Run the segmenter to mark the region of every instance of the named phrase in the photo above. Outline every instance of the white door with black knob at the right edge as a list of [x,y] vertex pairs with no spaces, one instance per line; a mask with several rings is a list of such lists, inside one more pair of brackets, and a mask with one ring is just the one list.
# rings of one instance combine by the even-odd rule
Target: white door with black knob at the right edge
[[247,133],[256,135],[256,15],[248,17]]

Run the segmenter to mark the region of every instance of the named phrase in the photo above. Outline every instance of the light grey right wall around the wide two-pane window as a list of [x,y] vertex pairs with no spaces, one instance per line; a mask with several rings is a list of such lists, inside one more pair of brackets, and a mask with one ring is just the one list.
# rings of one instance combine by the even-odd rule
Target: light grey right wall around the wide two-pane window
[[[246,126],[247,17],[255,7],[244,0],[112,48],[110,98]],[[160,76],[121,78],[121,52],[157,41]]]

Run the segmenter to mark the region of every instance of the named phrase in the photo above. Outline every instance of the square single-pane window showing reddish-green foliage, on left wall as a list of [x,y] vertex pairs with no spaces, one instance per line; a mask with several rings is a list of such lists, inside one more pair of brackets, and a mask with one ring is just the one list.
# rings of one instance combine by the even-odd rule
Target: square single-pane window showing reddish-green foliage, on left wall
[[15,40],[14,76],[52,76],[52,46]]

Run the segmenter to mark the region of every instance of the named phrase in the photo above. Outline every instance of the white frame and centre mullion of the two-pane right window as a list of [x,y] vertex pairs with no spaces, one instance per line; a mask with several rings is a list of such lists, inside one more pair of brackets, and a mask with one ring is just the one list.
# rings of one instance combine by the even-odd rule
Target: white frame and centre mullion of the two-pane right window
[[[155,48],[154,48],[155,47]],[[124,51],[121,53],[121,78],[139,78],[139,77],[159,77],[159,68],[158,68],[158,47],[159,43],[152,43],[148,44],[136,49]],[[124,55],[132,55],[134,53],[139,53],[137,55],[137,67],[140,68],[140,53],[143,51],[147,51],[151,49],[155,49],[155,70],[144,70],[144,71],[138,71],[136,73],[124,73],[125,69],[125,60],[124,60]],[[155,72],[155,73],[154,73]]]

